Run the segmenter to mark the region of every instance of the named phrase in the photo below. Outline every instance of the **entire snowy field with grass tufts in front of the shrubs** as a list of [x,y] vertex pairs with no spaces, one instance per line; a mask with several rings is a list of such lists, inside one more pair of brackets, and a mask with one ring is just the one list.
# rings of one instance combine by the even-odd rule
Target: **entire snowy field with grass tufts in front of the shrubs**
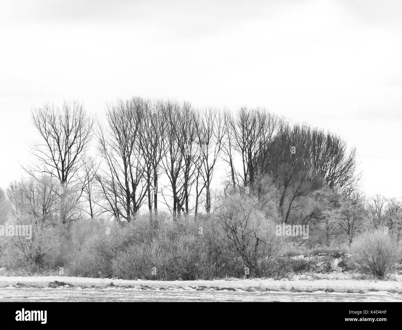
[[336,273],[324,277],[151,281],[0,276],[0,301],[402,301],[399,275],[385,281]]

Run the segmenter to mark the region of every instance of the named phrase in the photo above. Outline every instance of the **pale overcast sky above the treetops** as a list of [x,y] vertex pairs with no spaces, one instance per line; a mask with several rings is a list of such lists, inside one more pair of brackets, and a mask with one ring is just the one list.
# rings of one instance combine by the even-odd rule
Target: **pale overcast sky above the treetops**
[[[84,3],[83,3],[84,2]],[[355,146],[369,195],[402,196],[400,1],[0,0],[0,186],[32,107],[134,95],[263,106]]]

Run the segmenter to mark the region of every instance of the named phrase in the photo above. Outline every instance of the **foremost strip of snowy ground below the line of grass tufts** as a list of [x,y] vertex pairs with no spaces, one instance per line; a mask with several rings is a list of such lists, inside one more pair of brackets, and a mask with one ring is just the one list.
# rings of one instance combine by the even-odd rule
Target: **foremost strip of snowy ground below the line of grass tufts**
[[400,295],[386,292],[296,293],[289,291],[197,291],[153,288],[1,288],[0,301],[402,301]]

